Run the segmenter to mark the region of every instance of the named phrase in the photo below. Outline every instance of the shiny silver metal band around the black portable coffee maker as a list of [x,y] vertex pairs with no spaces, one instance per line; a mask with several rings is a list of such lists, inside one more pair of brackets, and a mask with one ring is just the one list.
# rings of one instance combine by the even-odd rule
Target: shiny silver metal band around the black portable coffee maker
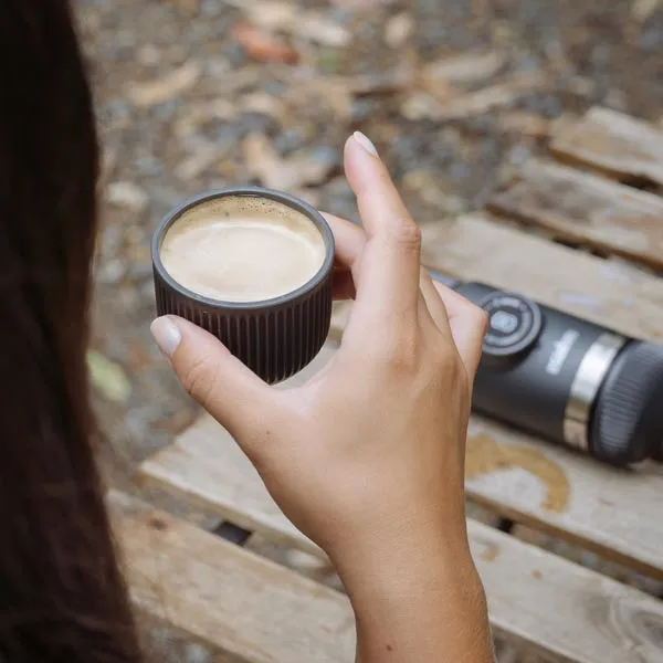
[[599,388],[618,352],[627,343],[623,336],[601,334],[587,350],[571,385],[564,418],[564,438],[570,446],[588,451],[588,424]]

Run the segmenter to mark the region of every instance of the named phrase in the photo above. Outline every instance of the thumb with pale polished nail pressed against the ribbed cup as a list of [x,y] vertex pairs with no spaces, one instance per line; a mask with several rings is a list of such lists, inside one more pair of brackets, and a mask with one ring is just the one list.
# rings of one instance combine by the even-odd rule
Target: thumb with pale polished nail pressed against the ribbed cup
[[[214,336],[175,315],[150,327],[187,392],[243,445],[255,435],[274,391]],[[249,451],[249,450],[244,450]]]

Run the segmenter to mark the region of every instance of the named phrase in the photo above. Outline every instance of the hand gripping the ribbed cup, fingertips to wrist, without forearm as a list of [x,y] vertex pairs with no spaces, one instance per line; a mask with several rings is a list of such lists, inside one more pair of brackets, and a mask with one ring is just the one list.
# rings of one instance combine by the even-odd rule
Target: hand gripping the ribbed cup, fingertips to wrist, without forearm
[[[181,318],[172,366],[235,438],[288,518],[330,555],[387,529],[464,532],[464,451],[483,312],[421,269],[419,228],[381,161],[350,138],[348,180],[364,228],[328,218],[337,294],[356,290],[325,370],[266,386],[210,334]],[[175,329],[172,329],[175,327]],[[162,333],[161,333],[162,335]],[[168,348],[167,348],[168,350]]]

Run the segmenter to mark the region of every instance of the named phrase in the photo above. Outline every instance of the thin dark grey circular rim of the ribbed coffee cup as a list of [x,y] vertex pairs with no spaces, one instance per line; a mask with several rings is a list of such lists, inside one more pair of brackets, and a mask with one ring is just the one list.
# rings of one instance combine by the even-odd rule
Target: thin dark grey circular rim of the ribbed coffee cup
[[[277,297],[272,297],[270,299],[260,299],[255,302],[227,302],[224,299],[213,299],[185,287],[181,283],[172,278],[172,276],[170,276],[164,266],[160,256],[160,245],[166,236],[166,232],[173,223],[176,223],[181,217],[183,217],[194,207],[218,198],[228,198],[230,196],[244,198],[266,198],[267,200],[273,200],[274,202],[285,204],[286,207],[306,215],[316,225],[325,242],[325,260],[317,273],[306,283],[302,284],[298,288],[291,291],[290,293],[278,295]],[[155,270],[158,271],[159,276],[168,284],[168,286],[189,299],[193,299],[194,302],[211,308],[255,311],[280,306],[297,299],[302,295],[315,290],[320,283],[323,283],[334,266],[335,241],[332,228],[323,214],[313,206],[308,204],[305,200],[302,200],[301,198],[297,198],[291,193],[286,193],[285,191],[276,191],[274,189],[266,189],[262,187],[228,187],[223,189],[212,189],[210,191],[204,191],[193,196],[168,212],[152,233],[151,260]]]

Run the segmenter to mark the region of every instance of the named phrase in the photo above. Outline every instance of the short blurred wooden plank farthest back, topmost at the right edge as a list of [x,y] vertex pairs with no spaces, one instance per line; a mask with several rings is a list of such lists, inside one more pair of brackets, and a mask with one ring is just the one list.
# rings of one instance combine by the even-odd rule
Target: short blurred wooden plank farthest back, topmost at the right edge
[[550,149],[622,181],[663,185],[663,131],[609,108],[593,107],[577,123],[561,123]]

